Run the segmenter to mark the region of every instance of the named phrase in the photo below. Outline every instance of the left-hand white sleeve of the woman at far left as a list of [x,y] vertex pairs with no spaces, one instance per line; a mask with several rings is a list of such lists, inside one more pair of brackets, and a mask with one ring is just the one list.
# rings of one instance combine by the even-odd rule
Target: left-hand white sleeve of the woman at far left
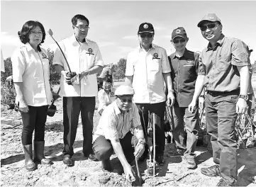
[[13,52],[11,63],[13,67],[13,82],[23,82],[22,76],[26,69],[26,58],[20,48]]

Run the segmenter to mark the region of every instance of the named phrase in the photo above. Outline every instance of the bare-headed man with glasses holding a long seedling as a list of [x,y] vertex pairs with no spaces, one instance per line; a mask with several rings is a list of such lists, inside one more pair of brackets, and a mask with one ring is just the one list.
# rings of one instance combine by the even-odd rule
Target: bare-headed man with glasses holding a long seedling
[[60,41],[60,47],[69,62],[72,72],[80,74],[79,85],[70,85],[67,62],[59,48],[55,50],[52,64],[62,76],[60,79],[60,95],[63,96],[63,125],[64,125],[64,164],[72,166],[73,144],[77,133],[79,113],[81,111],[83,125],[84,157],[96,160],[92,151],[92,130],[97,95],[96,73],[101,71],[103,60],[96,42],[87,39],[89,20],[80,14],[72,18],[74,35]]

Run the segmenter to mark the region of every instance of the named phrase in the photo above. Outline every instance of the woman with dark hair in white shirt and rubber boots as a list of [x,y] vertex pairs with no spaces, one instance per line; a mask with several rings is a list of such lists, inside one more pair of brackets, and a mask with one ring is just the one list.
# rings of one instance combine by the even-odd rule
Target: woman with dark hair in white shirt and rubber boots
[[40,47],[45,40],[45,29],[41,23],[27,21],[21,31],[18,31],[18,37],[23,45],[18,47],[11,57],[13,83],[16,89],[15,103],[23,120],[21,141],[25,166],[28,171],[33,171],[36,169],[36,162],[53,164],[44,156],[45,122],[48,105],[52,100],[49,60],[46,50]]

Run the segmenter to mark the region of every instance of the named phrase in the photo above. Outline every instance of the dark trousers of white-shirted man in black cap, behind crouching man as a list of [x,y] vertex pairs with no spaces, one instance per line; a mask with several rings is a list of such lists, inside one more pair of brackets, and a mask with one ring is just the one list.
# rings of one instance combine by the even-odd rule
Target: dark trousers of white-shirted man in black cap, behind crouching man
[[[145,120],[145,127],[143,125],[144,135],[148,129],[148,111],[155,113],[155,154],[162,156],[165,151],[165,102],[162,103],[136,103],[140,114],[140,122],[143,125],[143,117]],[[144,108],[144,110],[142,109]],[[145,145],[145,152],[143,155],[148,155],[148,145]]]

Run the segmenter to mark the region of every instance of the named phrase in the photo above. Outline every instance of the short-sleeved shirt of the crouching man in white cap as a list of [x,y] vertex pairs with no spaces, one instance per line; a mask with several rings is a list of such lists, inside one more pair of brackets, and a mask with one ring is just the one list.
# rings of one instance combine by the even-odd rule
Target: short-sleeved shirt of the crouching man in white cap
[[107,140],[122,139],[129,132],[130,128],[141,125],[140,115],[135,103],[129,111],[121,113],[116,101],[113,101],[104,109],[99,119],[99,125],[94,132],[93,142],[99,136],[104,136]]

